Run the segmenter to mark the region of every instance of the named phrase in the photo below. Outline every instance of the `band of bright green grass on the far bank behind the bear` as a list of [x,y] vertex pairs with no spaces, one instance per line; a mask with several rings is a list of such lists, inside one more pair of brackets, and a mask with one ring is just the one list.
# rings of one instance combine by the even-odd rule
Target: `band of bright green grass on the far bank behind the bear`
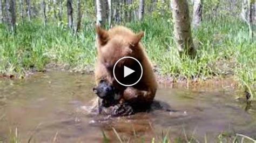
[[[17,25],[15,35],[0,25],[0,73],[23,75],[31,69],[42,71],[46,64],[68,65],[77,70],[95,63],[95,24],[84,22],[74,35],[64,26],[41,21]],[[204,21],[193,30],[198,57],[179,57],[173,39],[173,23],[165,18],[145,18],[126,23],[134,31],[146,32],[143,43],[159,73],[175,79],[207,79],[234,75],[241,87],[253,94],[256,79],[256,42],[248,37],[248,26],[240,19]]]

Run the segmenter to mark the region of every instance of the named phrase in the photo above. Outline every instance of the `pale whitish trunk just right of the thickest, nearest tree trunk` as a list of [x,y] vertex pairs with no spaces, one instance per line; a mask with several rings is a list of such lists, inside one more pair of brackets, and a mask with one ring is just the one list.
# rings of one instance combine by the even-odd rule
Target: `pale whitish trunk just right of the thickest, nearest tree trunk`
[[203,0],[194,0],[193,1],[193,26],[197,28],[202,20],[202,13],[203,13]]

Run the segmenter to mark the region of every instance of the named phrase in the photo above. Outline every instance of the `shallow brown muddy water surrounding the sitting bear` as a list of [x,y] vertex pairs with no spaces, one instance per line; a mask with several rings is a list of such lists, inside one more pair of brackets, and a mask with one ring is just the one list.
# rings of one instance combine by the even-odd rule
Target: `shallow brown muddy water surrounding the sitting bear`
[[[234,91],[185,90],[159,87],[157,100],[173,110],[138,113],[131,117],[102,117],[87,112],[94,86],[92,76],[47,72],[25,80],[0,80],[0,142],[18,129],[21,142],[102,142],[107,138],[149,142],[152,137],[193,135],[215,142],[219,133],[256,137],[256,110],[245,111]],[[185,133],[184,133],[185,132]]]

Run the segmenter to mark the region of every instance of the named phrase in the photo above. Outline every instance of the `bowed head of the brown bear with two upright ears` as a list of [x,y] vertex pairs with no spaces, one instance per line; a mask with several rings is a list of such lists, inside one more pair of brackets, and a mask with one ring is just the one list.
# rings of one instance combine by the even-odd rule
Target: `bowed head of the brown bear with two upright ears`
[[[112,72],[114,64],[122,57],[141,58],[142,46],[140,40],[144,32],[133,33],[124,26],[116,26],[109,31],[96,26],[97,32],[97,52],[98,60]],[[118,62],[116,67],[122,67],[124,64],[132,65],[135,61],[127,58]]]

